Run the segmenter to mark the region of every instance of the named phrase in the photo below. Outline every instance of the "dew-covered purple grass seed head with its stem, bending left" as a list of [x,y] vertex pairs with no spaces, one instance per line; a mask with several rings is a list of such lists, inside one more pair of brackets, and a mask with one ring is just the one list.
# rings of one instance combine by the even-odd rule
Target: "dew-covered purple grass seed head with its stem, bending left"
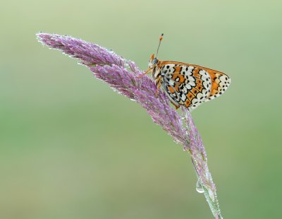
[[180,117],[176,110],[170,107],[168,97],[162,90],[159,90],[158,97],[155,96],[157,87],[148,76],[138,78],[142,71],[133,61],[123,59],[109,49],[66,35],[38,33],[37,40],[78,59],[80,64],[90,68],[96,78],[108,83],[116,92],[140,103],[153,121],[190,153],[198,177],[196,189],[204,193],[214,217],[222,218],[216,187],[207,167],[207,154],[187,108],[182,107]]

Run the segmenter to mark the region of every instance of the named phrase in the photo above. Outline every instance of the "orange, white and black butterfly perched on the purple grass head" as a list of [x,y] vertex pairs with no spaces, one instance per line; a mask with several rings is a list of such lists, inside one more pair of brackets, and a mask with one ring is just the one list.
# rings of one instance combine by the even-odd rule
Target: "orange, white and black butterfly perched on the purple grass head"
[[[159,46],[163,35],[159,37]],[[184,62],[161,61],[154,54],[149,59],[149,69],[140,76],[147,73],[152,73],[157,85],[156,97],[162,88],[176,109],[180,105],[195,109],[222,95],[231,83],[231,78],[221,71]]]

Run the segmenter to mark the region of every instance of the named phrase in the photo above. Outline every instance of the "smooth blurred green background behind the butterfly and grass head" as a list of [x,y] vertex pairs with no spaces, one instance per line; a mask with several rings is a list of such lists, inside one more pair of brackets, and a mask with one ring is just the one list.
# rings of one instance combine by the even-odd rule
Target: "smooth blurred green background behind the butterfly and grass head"
[[0,218],[213,218],[188,154],[35,33],[231,76],[192,117],[223,218],[281,218],[282,1],[3,1]]

